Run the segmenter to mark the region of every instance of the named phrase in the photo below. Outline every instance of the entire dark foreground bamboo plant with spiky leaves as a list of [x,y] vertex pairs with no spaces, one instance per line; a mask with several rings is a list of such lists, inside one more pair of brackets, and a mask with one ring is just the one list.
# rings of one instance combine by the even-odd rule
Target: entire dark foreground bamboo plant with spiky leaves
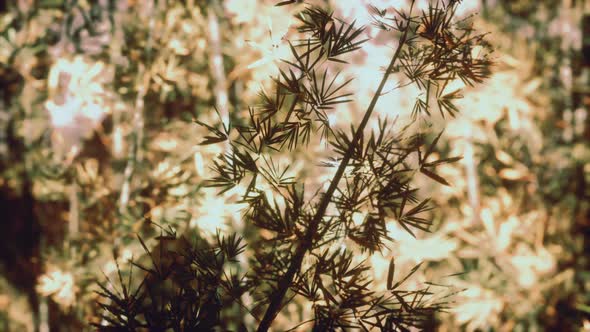
[[[290,3],[295,1],[278,5]],[[223,142],[227,147],[213,161],[216,175],[207,185],[221,192],[245,188],[245,221],[261,232],[248,239],[247,247],[236,235],[218,235],[215,244],[175,240],[185,244],[175,249],[160,244],[164,258],[152,259],[151,268],[141,266],[147,276],[134,291],[124,286],[117,294],[102,287],[102,296],[110,299],[103,304],[107,325],[130,330],[246,329],[244,317],[235,317],[239,311],[258,322],[258,331],[266,331],[287,303],[307,301],[313,317],[300,325],[310,324],[315,331],[432,328],[433,314],[447,303],[435,300],[429,288],[400,289],[418,266],[394,282],[392,259],[387,290],[376,291],[367,273],[370,266],[355,256],[384,249],[392,240],[386,227],[391,221],[412,235],[429,231],[426,212],[432,206],[418,197],[412,179],[420,172],[448,185],[436,167],[460,158],[433,160],[442,133],[428,142],[424,134],[387,120],[369,134],[365,129],[394,76],[409,80],[399,86],[414,83],[423,91],[412,112],[414,121],[430,115],[432,108],[443,117],[454,116],[458,109],[453,100],[460,94],[446,91],[448,84],[459,79],[473,85],[487,77],[490,60],[475,52],[487,45],[468,22],[453,20],[458,4],[437,3],[417,15],[413,3],[408,12],[394,9],[392,15],[389,9],[372,8],[374,24],[397,46],[361,122],[351,125],[350,133],[331,128],[328,120],[336,106],[352,100],[346,92],[350,80],[339,81],[333,71],[334,65],[347,65],[345,55],[361,48],[364,28],[322,8],[304,7],[296,15],[297,38],[288,43],[292,58],[279,65],[272,92],[260,93],[260,104],[249,108],[249,118],[230,126],[198,122],[210,130],[202,144]],[[276,159],[291,152],[293,162],[294,153],[315,142],[317,132],[333,151],[321,166],[335,172],[325,191],[311,194],[306,182],[312,181],[289,175]],[[346,248],[345,240],[355,248]],[[241,251],[249,259],[245,273],[234,264]],[[251,304],[244,303],[246,294]]]

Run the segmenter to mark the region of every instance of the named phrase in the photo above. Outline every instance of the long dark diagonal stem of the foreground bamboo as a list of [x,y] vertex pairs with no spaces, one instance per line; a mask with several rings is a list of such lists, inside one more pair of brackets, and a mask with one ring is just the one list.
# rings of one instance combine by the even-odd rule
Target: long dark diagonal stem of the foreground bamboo
[[[410,15],[411,15],[413,7],[414,7],[414,2],[412,1],[412,5],[410,7]],[[311,220],[309,227],[307,228],[307,232],[305,234],[305,237],[299,243],[299,245],[295,251],[295,254],[293,255],[293,258],[291,260],[291,264],[289,265],[287,272],[281,278],[281,280],[279,280],[279,282],[278,282],[277,290],[274,292],[274,294],[270,300],[270,303],[268,305],[268,308],[264,314],[264,317],[263,317],[260,325],[258,326],[259,332],[267,331],[270,328],[270,326],[271,326],[272,322],[274,321],[274,319],[276,318],[276,316],[278,315],[278,313],[281,311],[282,302],[285,297],[285,294],[287,293],[287,290],[289,289],[289,287],[291,287],[291,285],[293,283],[293,278],[295,277],[297,272],[299,272],[299,270],[301,269],[301,264],[303,262],[303,258],[305,257],[305,254],[309,250],[311,250],[313,247],[313,237],[315,234],[317,234],[320,221],[322,220],[322,218],[324,218],[324,215],[326,213],[328,205],[330,204],[330,202],[332,200],[332,195],[336,191],[336,188],[338,187],[338,183],[340,182],[342,176],[344,175],[344,171],[345,171],[346,167],[348,166],[350,158],[352,157],[352,154],[353,154],[354,150],[356,149],[356,146],[357,146],[360,138],[363,135],[363,131],[364,131],[367,123],[369,122],[369,119],[371,117],[371,114],[373,113],[373,110],[375,109],[375,106],[377,105],[377,101],[381,97],[381,93],[383,92],[383,88],[385,87],[385,83],[387,82],[389,75],[392,73],[392,71],[394,69],[394,65],[395,65],[395,63],[401,53],[401,50],[406,42],[406,38],[408,36],[408,31],[409,31],[409,22],[408,22],[408,25],[406,26],[406,28],[404,29],[404,33],[401,36],[401,39],[399,41],[399,44],[398,44],[397,49],[395,51],[395,54],[393,55],[391,62],[389,63],[389,66],[387,67],[387,70],[385,71],[385,74],[383,74],[383,78],[381,79],[381,83],[379,84],[377,91],[373,95],[373,99],[371,99],[371,103],[369,104],[369,107],[367,108],[367,111],[365,112],[365,115],[364,115],[358,129],[355,132],[354,138],[353,138],[351,144],[348,146],[348,150],[344,154],[342,161],[340,162],[340,165],[338,166],[338,169],[336,170],[336,174],[334,175],[334,178],[330,182],[330,186],[328,187],[328,190],[326,190],[326,192],[322,196],[320,204],[318,205],[318,208],[317,208],[317,212],[314,215],[313,219]]]

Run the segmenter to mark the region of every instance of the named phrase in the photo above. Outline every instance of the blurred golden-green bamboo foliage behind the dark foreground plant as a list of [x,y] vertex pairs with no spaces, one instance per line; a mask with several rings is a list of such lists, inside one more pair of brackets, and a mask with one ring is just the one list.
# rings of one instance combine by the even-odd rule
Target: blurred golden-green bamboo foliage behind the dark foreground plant
[[[198,145],[194,120],[239,121],[276,74],[291,7],[274,3],[0,2],[0,330],[100,323],[96,280],[141,260],[138,234],[152,246],[159,228],[247,235],[235,194],[202,186],[222,151]],[[345,128],[391,48],[368,5],[406,1],[316,3],[368,25],[371,41],[344,71],[355,103],[330,118]],[[391,256],[406,270],[425,262],[414,282],[459,291],[441,331],[590,331],[590,3],[460,10],[490,33],[493,75],[464,91],[455,118],[435,118],[447,139],[437,153],[463,160],[440,167],[450,187],[419,184],[436,227],[414,239],[392,223],[393,245],[370,257],[374,277],[385,283]],[[409,119],[416,94],[391,91],[380,115]],[[291,166],[305,172],[310,158]]]

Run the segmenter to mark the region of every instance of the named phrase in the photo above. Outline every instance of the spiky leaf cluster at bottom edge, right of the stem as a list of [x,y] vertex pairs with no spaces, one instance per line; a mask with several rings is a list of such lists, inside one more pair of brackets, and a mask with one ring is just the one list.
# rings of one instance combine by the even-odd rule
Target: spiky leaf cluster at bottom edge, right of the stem
[[370,266],[366,262],[354,263],[353,251],[325,250],[312,257],[315,264],[301,274],[293,290],[315,303],[313,331],[424,330],[431,328],[434,313],[446,307],[444,302],[428,303],[427,299],[433,295],[429,288],[415,291],[399,288],[420,265],[393,283],[392,259],[387,290],[377,292],[372,290],[373,281],[367,276]]

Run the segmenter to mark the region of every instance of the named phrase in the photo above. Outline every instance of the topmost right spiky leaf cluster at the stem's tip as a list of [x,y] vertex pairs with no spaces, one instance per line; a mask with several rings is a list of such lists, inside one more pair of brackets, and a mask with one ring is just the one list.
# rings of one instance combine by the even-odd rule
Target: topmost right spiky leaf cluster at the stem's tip
[[[460,79],[474,86],[491,73],[491,46],[484,39],[486,34],[476,33],[469,17],[458,22],[453,19],[459,3],[436,2],[417,16],[395,10],[397,16],[391,17],[386,9],[372,7],[373,24],[379,29],[411,32],[396,71],[424,91],[414,104],[414,119],[419,114],[431,115],[432,101],[443,117],[454,117],[459,112],[454,101],[462,95],[460,90],[446,91],[448,84]],[[409,25],[404,26],[404,21]]]

